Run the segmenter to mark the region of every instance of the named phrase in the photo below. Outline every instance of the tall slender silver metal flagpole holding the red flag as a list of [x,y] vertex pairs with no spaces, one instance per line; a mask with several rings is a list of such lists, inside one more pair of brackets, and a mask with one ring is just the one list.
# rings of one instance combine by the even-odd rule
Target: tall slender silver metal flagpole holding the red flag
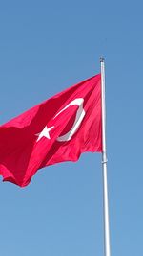
[[102,97],[102,172],[103,172],[103,211],[104,211],[104,253],[111,256],[110,223],[109,223],[109,199],[107,179],[107,149],[106,149],[106,104],[105,104],[105,62],[101,63],[101,97]]

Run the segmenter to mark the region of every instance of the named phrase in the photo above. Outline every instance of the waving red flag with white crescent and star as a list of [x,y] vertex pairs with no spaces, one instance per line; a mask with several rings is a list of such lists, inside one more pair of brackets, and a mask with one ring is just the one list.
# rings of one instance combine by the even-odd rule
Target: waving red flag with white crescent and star
[[27,186],[38,169],[102,151],[101,76],[51,97],[0,127],[0,174]]

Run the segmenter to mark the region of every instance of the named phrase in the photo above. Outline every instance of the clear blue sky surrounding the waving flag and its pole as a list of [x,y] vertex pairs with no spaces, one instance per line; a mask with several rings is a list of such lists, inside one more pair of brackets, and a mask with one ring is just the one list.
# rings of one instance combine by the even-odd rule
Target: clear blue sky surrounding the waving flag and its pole
[[[112,256],[143,255],[143,4],[1,1],[0,123],[99,73],[106,59]],[[101,155],[0,183],[0,254],[102,256]],[[1,178],[2,180],[2,178]]]

